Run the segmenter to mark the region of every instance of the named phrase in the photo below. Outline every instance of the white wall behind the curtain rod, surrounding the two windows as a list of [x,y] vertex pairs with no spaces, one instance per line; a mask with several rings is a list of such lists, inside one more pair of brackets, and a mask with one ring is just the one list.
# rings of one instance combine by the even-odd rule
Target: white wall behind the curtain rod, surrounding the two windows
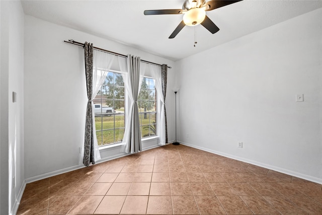
[[[49,176],[79,164],[87,104],[84,49],[63,42],[68,39],[89,41],[96,47],[138,55],[141,59],[159,64],[174,64],[123,44],[25,16],[26,179]],[[170,86],[173,80],[174,68],[168,70]],[[169,99],[172,97],[168,96],[167,101]],[[170,112],[171,105],[168,102]],[[169,130],[170,139],[174,139],[171,132],[173,124],[169,125]],[[117,148],[113,153],[121,152]],[[109,155],[107,151],[102,153],[105,159]]]

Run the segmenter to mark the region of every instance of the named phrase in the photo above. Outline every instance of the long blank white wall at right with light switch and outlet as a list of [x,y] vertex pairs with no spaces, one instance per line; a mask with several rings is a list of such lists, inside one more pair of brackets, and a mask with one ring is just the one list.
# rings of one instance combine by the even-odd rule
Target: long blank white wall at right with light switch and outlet
[[[318,9],[176,62],[178,140],[321,183],[321,15]],[[295,102],[296,93],[304,102]]]

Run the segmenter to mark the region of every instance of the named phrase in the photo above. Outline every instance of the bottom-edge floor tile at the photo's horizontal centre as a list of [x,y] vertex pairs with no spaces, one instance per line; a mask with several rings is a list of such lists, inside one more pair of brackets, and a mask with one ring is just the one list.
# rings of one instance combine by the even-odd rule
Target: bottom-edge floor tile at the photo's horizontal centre
[[146,214],[173,214],[171,196],[149,196]]

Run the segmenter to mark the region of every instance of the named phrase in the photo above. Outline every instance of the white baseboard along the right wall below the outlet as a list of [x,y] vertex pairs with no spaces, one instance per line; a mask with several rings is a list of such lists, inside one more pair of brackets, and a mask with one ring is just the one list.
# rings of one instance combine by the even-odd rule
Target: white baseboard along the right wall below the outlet
[[271,166],[269,164],[263,164],[263,163],[260,163],[260,162],[256,162],[256,161],[248,160],[248,159],[245,159],[245,158],[240,158],[240,157],[237,157],[237,156],[229,155],[229,154],[226,154],[226,153],[218,152],[218,151],[215,151],[215,150],[210,150],[210,149],[199,147],[199,146],[196,146],[196,145],[187,144],[186,142],[181,142],[181,141],[179,141],[179,142],[180,142],[180,144],[182,144],[184,146],[192,147],[192,148],[199,149],[199,150],[202,150],[202,151],[205,151],[205,152],[210,152],[210,153],[213,153],[213,154],[216,154],[216,155],[220,155],[220,156],[223,156],[223,157],[226,157],[226,158],[231,158],[231,159],[234,159],[234,160],[237,160],[237,161],[242,161],[242,162],[245,162],[245,163],[253,164],[253,165],[260,166],[260,167],[263,167],[263,168],[266,168],[266,169],[270,169],[270,170],[274,170],[274,171],[277,171],[277,172],[280,172],[280,173],[291,175],[291,176],[294,176],[294,177],[297,177],[297,178],[301,178],[301,179],[304,179],[304,180],[307,180],[307,181],[322,184],[322,178],[312,177],[312,176],[305,175],[305,174],[298,173],[298,172],[294,172],[294,171],[291,171],[291,170],[286,170],[286,169],[283,169],[283,168],[280,168],[280,167]]

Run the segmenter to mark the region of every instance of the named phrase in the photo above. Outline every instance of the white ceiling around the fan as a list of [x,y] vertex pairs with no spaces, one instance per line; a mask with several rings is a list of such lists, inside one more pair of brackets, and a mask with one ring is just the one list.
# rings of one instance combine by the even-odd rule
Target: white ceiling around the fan
[[194,47],[194,27],[186,26],[174,39],[168,39],[183,15],[143,15],[144,10],[181,9],[184,0],[21,2],[27,15],[174,61],[322,7],[322,1],[244,0],[208,11],[220,31],[211,34],[196,26],[198,43]]

